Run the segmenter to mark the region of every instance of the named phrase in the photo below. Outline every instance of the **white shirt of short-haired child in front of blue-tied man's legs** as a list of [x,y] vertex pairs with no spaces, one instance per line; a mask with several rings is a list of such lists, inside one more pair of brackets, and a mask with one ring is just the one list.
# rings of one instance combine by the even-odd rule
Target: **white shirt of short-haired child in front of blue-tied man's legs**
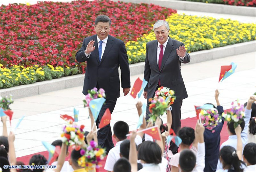
[[[118,141],[116,143],[116,146],[109,150],[105,167],[104,167],[105,170],[113,171],[116,161],[120,158],[120,145],[123,141],[124,140]],[[137,135],[135,137],[135,143],[136,145],[139,145],[140,143],[142,143],[142,138]]]

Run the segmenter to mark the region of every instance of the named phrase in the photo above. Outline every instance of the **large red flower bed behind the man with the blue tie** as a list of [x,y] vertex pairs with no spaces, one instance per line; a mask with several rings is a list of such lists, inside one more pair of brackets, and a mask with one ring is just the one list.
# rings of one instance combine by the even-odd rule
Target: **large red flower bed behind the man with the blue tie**
[[[124,42],[136,40],[175,10],[154,4],[113,1],[38,2],[0,7],[0,63],[31,66],[74,66],[85,37],[95,34],[94,20],[108,15],[110,34]],[[84,67],[81,69],[84,71]]]

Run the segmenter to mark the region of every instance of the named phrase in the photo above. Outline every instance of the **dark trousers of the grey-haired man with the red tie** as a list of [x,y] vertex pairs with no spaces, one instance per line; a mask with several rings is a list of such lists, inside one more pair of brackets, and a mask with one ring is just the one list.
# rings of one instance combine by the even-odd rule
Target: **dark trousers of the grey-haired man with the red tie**
[[[159,87],[161,87],[161,86],[157,85],[156,90]],[[155,95],[153,97],[155,97]],[[178,135],[178,131],[179,131],[180,126],[181,126],[181,123],[180,123],[180,117],[181,117],[180,108],[181,108],[181,105],[182,105],[182,100],[179,101],[179,102],[175,102],[174,104],[171,105],[172,106],[172,126],[171,126],[171,128],[173,129],[173,131],[175,132],[176,135]],[[149,108],[149,103],[147,103],[146,121],[149,119],[148,114],[150,114],[148,108]],[[173,154],[178,153],[178,147],[172,141],[171,141],[169,149],[172,151]]]

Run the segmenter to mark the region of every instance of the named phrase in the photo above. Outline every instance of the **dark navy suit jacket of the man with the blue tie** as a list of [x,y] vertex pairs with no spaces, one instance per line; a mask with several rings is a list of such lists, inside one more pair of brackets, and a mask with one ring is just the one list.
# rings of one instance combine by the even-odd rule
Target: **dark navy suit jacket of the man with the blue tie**
[[[95,40],[95,50],[86,58],[84,50],[90,40]],[[78,62],[87,62],[84,76],[83,94],[88,94],[88,90],[96,87],[103,88],[106,92],[106,99],[117,99],[120,96],[120,81],[118,67],[121,68],[122,88],[130,88],[130,68],[124,42],[108,35],[108,41],[101,61],[97,35],[87,37],[83,40],[81,49],[76,53]]]

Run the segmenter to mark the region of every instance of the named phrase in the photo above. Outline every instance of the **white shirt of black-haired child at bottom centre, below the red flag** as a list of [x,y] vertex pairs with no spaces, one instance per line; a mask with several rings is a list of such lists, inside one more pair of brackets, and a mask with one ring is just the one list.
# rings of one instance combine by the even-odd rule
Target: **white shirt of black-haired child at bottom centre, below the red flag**
[[166,172],[167,160],[162,157],[162,162],[159,164],[142,164],[142,168],[138,172],[149,171],[164,171]]

